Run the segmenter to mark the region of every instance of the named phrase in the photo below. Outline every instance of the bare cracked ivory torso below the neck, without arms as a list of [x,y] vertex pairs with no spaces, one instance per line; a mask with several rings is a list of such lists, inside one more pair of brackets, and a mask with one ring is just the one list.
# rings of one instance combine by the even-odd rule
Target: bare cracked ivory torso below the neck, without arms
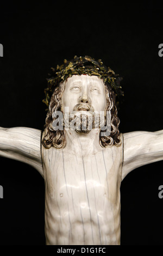
[[76,156],[42,147],[47,245],[120,244],[123,143]]

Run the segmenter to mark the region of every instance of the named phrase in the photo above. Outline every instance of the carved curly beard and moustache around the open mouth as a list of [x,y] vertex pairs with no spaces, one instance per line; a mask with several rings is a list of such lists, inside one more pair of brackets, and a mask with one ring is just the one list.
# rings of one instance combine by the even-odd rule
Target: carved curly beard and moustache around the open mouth
[[71,113],[64,115],[65,130],[73,130],[77,133],[89,133],[92,129],[102,127],[104,119],[95,113],[89,104],[77,104]]

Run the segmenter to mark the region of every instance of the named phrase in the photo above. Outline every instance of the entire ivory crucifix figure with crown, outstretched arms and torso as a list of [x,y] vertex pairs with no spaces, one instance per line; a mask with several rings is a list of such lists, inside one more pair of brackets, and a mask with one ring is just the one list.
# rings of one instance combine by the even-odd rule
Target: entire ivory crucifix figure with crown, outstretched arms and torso
[[45,179],[47,245],[120,245],[122,180],[163,160],[163,130],[119,132],[120,81],[102,60],[64,60],[45,89],[44,131],[0,129],[0,156]]

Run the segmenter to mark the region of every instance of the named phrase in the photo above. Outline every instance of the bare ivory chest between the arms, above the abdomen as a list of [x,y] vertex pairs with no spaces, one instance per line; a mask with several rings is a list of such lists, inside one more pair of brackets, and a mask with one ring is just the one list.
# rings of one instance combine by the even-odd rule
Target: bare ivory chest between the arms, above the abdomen
[[45,159],[46,186],[52,199],[89,202],[99,197],[112,198],[120,180],[120,162],[101,151],[90,156],[76,156],[64,151],[51,151]]

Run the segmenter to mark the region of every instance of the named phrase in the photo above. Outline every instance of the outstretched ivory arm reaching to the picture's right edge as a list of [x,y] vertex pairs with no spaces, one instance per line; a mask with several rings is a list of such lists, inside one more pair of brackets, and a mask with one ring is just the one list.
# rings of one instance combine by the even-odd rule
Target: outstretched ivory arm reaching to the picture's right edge
[[160,160],[163,160],[163,130],[123,134],[122,180],[131,170]]

